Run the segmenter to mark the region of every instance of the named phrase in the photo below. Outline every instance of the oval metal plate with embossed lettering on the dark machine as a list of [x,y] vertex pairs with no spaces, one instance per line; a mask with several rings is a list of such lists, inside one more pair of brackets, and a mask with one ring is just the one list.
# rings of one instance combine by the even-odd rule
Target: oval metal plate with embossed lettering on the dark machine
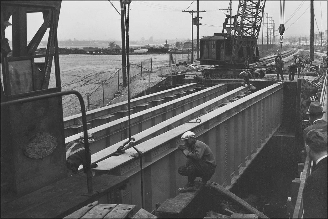
[[40,132],[29,140],[28,144],[24,146],[23,152],[30,158],[43,158],[51,154],[57,144],[57,138],[53,134]]

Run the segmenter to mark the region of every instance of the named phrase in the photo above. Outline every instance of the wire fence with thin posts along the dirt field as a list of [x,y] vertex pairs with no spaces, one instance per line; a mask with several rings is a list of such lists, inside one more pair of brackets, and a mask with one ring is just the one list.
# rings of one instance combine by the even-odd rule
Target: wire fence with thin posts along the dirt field
[[[153,73],[153,60],[150,58],[139,63],[129,63],[128,67],[130,72],[130,83],[138,76],[149,76],[150,80],[150,74]],[[123,95],[120,91],[122,83],[122,68],[116,68],[115,71],[110,73],[109,77],[101,80],[92,91],[85,94],[87,110],[109,105],[112,99]]]

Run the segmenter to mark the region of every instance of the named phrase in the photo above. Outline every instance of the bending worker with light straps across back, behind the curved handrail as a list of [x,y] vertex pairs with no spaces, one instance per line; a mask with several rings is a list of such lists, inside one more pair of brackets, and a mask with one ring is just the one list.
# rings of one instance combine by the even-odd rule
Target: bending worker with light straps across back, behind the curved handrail
[[[88,142],[94,142],[93,135],[88,133]],[[84,135],[80,136],[79,142],[70,142],[66,146],[66,165],[72,173],[76,174],[80,165],[85,165],[85,149],[84,149]],[[96,167],[97,164],[91,165],[91,168]]]

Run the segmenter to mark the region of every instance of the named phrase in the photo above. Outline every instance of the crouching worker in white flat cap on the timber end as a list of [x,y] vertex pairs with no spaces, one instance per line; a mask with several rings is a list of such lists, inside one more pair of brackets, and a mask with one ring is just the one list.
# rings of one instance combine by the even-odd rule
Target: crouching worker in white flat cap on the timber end
[[186,132],[181,140],[185,145],[179,145],[179,149],[186,155],[186,165],[178,168],[178,173],[188,177],[188,184],[178,190],[180,192],[195,191],[196,177],[202,178],[202,184],[205,185],[211,179],[215,172],[216,162],[209,146],[195,139],[194,132]]

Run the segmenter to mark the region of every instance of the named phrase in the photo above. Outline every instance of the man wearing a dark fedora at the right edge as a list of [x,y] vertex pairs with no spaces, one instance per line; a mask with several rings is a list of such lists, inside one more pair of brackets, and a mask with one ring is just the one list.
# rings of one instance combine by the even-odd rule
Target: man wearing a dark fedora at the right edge
[[312,129],[323,129],[327,131],[327,121],[322,119],[325,112],[326,111],[322,111],[321,104],[319,102],[310,103],[309,111],[305,114],[309,115],[311,125],[304,129],[303,139],[305,139],[306,134]]

